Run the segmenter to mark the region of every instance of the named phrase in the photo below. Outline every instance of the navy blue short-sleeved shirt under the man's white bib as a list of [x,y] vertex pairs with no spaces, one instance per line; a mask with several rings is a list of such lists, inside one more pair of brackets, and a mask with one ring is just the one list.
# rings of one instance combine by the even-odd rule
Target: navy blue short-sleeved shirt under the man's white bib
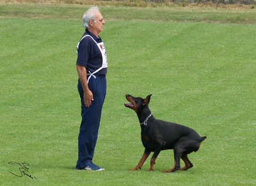
[[[84,32],[83,36],[90,35],[97,42],[103,42],[99,36],[95,36],[88,29]],[[82,36],[82,38],[83,38]],[[98,70],[103,64],[103,57],[99,50],[98,45],[93,41],[90,36],[86,36],[83,38],[78,45],[78,59],[76,60],[76,64],[86,67],[87,73],[90,71],[93,73]],[[103,68],[100,71],[95,73],[96,75],[106,75],[107,68]]]

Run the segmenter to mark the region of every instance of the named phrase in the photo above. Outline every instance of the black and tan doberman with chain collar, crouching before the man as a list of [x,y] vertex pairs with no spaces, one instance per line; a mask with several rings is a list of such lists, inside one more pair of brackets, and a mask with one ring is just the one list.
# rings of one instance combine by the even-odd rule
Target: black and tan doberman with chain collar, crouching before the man
[[[130,103],[125,103],[125,107],[133,109],[138,115],[141,124],[141,141],[145,147],[144,154],[135,168],[131,171],[142,168],[143,163],[147,160],[151,152],[153,155],[150,160],[149,171],[154,170],[157,156],[160,151],[173,149],[174,151],[174,166],[170,170],[162,172],[174,172],[177,170],[187,170],[193,167],[187,154],[197,152],[201,143],[206,139],[206,136],[201,137],[192,128],[165,122],[163,120],[153,117],[148,104],[151,95],[143,99],[140,97],[133,97],[126,94],[126,99]],[[180,161],[184,161],[185,166],[181,169]]]

